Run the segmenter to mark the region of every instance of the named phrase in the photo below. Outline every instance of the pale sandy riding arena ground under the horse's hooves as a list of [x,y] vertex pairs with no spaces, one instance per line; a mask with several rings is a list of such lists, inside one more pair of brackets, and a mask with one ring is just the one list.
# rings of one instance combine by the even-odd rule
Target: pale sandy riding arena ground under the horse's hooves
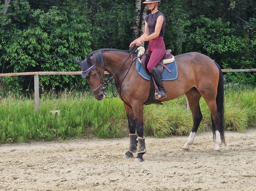
[[212,132],[146,137],[144,162],[124,158],[129,138],[0,145],[0,190],[10,191],[254,191],[256,128],[226,131],[213,154]]

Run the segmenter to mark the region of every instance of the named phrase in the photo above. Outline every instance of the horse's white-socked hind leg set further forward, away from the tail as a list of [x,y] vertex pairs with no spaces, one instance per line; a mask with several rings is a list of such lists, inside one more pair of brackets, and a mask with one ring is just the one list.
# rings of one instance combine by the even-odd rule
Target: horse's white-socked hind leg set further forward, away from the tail
[[199,105],[201,94],[197,91],[197,89],[196,88],[191,89],[189,92],[186,93],[186,97],[188,100],[190,111],[193,116],[193,127],[191,129],[191,132],[188,136],[186,143],[182,147],[182,151],[189,151],[189,146],[193,144],[198,127],[203,118],[200,105]]

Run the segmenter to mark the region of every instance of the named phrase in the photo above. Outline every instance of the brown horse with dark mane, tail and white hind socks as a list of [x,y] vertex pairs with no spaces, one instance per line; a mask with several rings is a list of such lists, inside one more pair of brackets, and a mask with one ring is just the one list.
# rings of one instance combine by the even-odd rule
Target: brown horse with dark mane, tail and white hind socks
[[[130,131],[130,145],[126,158],[133,157],[142,162],[146,153],[143,137],[143,105],[148,100],[151,82],[136,71],[136,53],[117,49],[101,49],[87,55],[83,61],[74,59],[82,69],[82,77],[90,84],[98,100],[106,97],[104,71],[114,78],[119,97],[124,102]],[[130,58],[131,57],[131,58]],[[215,140],[214,151],[220,152],[224,137],[224,80],[220,66],[206,55],[190,52],[174,57],[177,63],[176,80],[163,81],[167,97],[160,102],[186,95],[193,116],[193,127],[182,150],[188,151],[193,143],[203,118],[199,100],[203,97],[210,109],[212,131]],[[137,134],[136,134],[137,132]]]

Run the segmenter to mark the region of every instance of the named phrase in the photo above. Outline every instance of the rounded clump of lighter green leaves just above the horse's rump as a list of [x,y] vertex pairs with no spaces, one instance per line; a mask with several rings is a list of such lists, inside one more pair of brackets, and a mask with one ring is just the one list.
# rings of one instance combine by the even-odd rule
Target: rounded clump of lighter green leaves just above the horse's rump
[[187,36],[188,42],[184,47],[187,52],[192,51],[192,45],[194,51],[202,52],[208,56],[238,50],[236,41],[234,41],[236,37],[232,35],[235,30],[230,29],[230,23],[223,23],[220,18],[211,20],[204,16],[190,22],[190,26],[186,30],[186,33],[189,34]]

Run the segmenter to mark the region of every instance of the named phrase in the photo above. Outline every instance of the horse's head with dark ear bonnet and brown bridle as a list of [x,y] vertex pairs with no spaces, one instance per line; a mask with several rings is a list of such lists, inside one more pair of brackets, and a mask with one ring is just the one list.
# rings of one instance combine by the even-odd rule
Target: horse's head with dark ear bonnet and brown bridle
[[83,61],[79,61],[77,59],[74,60],[81,67],[82,78],[90,84],[95,98],[98,100],[105,98],[107,93],[104,90],[104,69],[102,69],[102,75],[102,72],[100,72],[100,70],[95,66],[89,55],[87,55],[86,59]]

